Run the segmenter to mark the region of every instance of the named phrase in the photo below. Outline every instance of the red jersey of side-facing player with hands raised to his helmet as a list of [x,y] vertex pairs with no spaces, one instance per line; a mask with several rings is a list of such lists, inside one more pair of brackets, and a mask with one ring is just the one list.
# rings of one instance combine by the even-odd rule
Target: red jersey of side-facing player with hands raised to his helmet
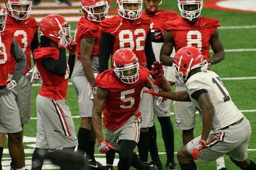
[[42,60],[52,57],[54,60],[59,59],[59,50],[54,47],[38,48],[34,51],[36,66],[42,76],[43,83],[40,90],[40,95],[50,99],[65,99],[68,89],[69,67],[65,76],[57,76],[42,66]]

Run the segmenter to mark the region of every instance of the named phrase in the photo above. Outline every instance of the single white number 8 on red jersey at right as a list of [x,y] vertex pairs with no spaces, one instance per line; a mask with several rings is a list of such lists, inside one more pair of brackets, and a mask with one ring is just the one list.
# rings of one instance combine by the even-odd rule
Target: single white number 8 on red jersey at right
[[199,31],[189,31],[187,34],[188,46],[194,46],[198,50],[202,50],[202,34]]

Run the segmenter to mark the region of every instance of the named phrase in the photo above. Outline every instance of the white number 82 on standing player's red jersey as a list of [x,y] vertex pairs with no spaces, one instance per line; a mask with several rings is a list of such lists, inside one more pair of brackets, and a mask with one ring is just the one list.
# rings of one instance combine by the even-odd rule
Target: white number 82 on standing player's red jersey
[[[134,41],[134,37],[136,41]],[[122,30],[119,33],[120,48],[134,49],[136,45],[136,51],[144,50],[145,48],[146,32],[144,29],[135,29],[134,34],[131,30]]]

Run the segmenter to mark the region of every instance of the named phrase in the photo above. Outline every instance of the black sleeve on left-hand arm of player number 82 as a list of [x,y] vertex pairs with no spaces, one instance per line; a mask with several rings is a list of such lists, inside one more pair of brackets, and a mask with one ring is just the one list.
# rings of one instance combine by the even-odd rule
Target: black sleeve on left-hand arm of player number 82
[[113,52],[114,37],[108,32],[102,32],[99,46],[99,73],[108,69],[108,60]]

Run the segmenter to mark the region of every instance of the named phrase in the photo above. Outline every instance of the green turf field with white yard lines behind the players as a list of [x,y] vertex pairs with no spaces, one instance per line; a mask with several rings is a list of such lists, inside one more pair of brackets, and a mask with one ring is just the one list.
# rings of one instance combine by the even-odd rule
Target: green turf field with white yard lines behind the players
[[[51,0],[49,0],[51,1]],[[175,10],[178,11],[177,1],[175,0],[163,0],[163,4],[161,4],[160,8],[164,8],[165,10]],[[111,6],[115,8],[115,4]],[[230,96],[234,103],[236,103],[239,110],[243,110],[244,115],[250,120],[252,125],[252,138],[250,140],[248,156],[250,159],[256,161],[256,29],[253,28],[239,28],[239,29],[228,29],[228,26],[244,26],[244,25],[256,25],[256,13],[241,13],[241,12],[232,12],[232,11],[221,11],[221,10],[212,10],[208,8],[204,8],[202,10],[201,16],[206,17],[215,17],[220,20],[221,27],[219,29],[220,38],[223,41],[225,46],[226,57],[225,60],[212,66],[212,71],[215,71],[220,75],[223,79],[223,83],[225,87],[230,92]],[[76,29],[76,23],[71,23],[72,30]],[[241,49],[242,52],[237,52],[237,49]],[[246,51],[247,49],[247,51]],[[250,50],[254,49],[254,50]],[[245,52],[246,51],[246,52]],[[252,78],[249,78],[252,77]],[[232,78],[237,78],[237,80],[230,80]],[[38,94],[40,87],[33,87],[33,97],[32,97],[32,107],[31,107],[31,121],[28,125],[25,125],[24,136],[33,137],[36,136],[36,106],[35,106],[35,98]],[[77,108],[77,99],[76,94],[72,85],[68,86],[68,96],[67,101],[70,106],[70,110],[72,111],[73,116],[78,116],[78,108]],[[172,108],[172,107],[171,107]],[[172,122],[174,120],[173,115],[171,115]],[[74,118],[74,122],[76,124],[76,130],[79,129],[80,119]],[[164,145],[163,139],[161,136],[161,127],[156,118],[156,127],[157,127],[157,143],[159,148],[159,155],[163,162],[166,162],[166,156],[164,155]],[[174,124],[173,124],[174,125]],[[173,126],[175,131],[175,152],[179,150],[182,146],[182,135],[181,131],[178,131],[175,126]],[[195,127],[195,136],[198,136],[201,133],[201,124],[197,115],[196,118],[196,127]],[[35,145],[35,142],[24,143],[24,148],[31,149],[31,146]],[[7,148],[7,144],[6,144]],[[26,150],[27,151],[27,150]],[[97,146],[95,148],[96,153],[98,154]],[[175,154],[176,155],[176,154]],[[10,160],[8,154],[3,155],[4,160]],[[99,155],[97,157],[104,157],[104,155]],[[118,158],[118,156],[116,156]],[[26,160],[30,161],[31,153],[26,153]],[[150,161],[150,158],[148,159]],[[178,163],[177,158],[175,157],[176,163]],[[30,164],[31,162],[29,162]],[[216,169],[215,162],[211,162],[209,164],[202,164],[200,162],[196,162],[198,165],[198,169]],[[225,164],[228,170],[236,170],[238,169],[234,164],[225,156]],[[178,166],[179,167],[179,166]],[[116,168],[117,169],[117,168]],[[180,167],[179,167],[180,169]]]

